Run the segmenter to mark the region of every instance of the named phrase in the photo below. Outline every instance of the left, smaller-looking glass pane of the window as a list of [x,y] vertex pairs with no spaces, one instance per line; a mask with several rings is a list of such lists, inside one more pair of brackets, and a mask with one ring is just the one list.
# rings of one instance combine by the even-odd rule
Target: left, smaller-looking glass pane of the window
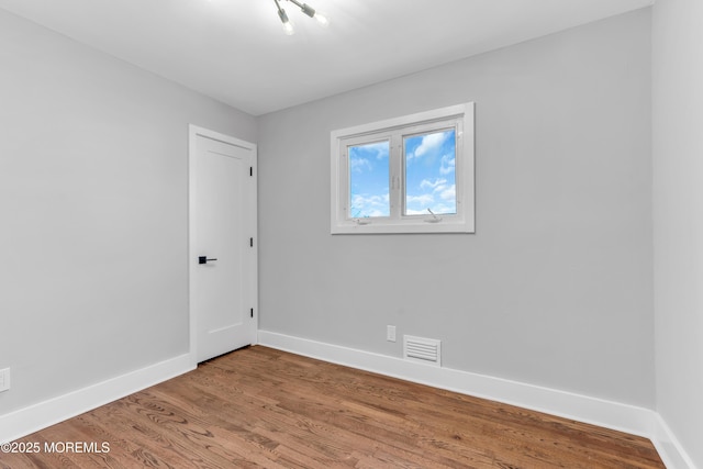
[[390,143],[347,147],[349,155],[349,217],[389,216]]

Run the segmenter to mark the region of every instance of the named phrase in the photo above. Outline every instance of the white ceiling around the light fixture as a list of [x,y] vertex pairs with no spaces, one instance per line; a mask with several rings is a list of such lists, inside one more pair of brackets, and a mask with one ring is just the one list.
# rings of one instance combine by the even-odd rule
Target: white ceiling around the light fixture
[[253,115],[647,7],[654,0],[0,0],[24,16]]

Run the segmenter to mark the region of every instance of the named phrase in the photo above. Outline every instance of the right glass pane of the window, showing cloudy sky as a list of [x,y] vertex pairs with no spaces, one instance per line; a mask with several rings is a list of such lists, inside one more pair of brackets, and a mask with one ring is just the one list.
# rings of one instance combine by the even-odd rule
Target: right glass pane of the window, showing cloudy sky
[[456,131],[403,137],[405,215],[456,214]]

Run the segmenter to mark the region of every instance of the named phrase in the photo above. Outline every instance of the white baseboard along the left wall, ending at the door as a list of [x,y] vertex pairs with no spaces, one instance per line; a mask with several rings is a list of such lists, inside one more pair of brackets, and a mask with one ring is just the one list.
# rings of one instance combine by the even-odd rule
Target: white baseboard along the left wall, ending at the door
[[80,415],[125,395],[194,369],[185,354],[109,380],[0,415],[0,443],[18,438]]

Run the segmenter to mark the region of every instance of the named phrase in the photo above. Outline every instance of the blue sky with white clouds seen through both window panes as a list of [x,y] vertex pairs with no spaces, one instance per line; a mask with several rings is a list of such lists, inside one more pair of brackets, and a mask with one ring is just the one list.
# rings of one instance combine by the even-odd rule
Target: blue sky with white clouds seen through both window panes
[[[405,214],[456,213],[455,130],[404,138]],[[349,147],[352,217],[389,216],[389,143]]]

